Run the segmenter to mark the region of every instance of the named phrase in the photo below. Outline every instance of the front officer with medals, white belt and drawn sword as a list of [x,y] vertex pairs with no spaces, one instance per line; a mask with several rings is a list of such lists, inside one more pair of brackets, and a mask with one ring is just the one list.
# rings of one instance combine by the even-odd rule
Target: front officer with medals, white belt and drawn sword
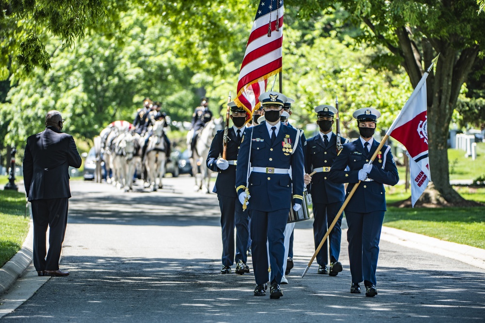
[[280,122],[286,100],[285,95],[273,91],[259,96],[266,121],[246,128],[236,169],[239,200],[251,212],[254,295],[266,294],[268,267],[271,265],[271,298],[283,296],[279,285],[283,277],[284,231],[291,202],[295,211],[303,202],[304,167],[299,131]]

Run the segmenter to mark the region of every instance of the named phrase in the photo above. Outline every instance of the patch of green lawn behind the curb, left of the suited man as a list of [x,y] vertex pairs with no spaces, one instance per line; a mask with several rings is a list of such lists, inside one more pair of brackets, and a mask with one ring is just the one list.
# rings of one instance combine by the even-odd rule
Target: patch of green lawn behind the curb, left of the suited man
[[22,247],[29,231],[25,217],[25,194],[0,190],[0,267]]

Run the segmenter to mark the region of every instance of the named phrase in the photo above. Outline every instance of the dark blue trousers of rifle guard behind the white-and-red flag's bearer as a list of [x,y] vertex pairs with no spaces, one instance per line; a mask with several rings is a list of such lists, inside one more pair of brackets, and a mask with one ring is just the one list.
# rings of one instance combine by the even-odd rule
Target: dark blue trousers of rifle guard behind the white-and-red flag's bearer
[[[335,219],[335,215],[339,213],[340,208],[343,205],[343,201],[335,203],[315,203],[313,202],[313,238],[315,241],[315,250],[320,245],[323,236]],[[330,231],[328,239],[325,239],[325,243],[317,254],[317,263],[321,266],[328,264],[328,249],[330,250],[330,262],[339,260],[340,256],[340,239],[342,237],[342,229],[340,225],[342,223],[343,214],[340,215],[339,220]],[[330,242],[330,248],[328,242]]]

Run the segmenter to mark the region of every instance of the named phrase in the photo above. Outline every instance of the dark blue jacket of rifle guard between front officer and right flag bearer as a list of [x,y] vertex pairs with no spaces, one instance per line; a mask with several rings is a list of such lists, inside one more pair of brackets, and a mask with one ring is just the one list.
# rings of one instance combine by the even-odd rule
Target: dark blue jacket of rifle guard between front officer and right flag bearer
[[[341,137],[340,143],[348,139]],[[320,134],[307,140],[305,163],[307,173],[311,173],[319,167],[332,167],[337,158],[337,135],[332,133],[328,145],[325,147]],[[314,203],[335,203],[345,200],[343,184],[332,182],[328,172],[318,172],[311,177],[311,183],[307,185],[308,191]]]

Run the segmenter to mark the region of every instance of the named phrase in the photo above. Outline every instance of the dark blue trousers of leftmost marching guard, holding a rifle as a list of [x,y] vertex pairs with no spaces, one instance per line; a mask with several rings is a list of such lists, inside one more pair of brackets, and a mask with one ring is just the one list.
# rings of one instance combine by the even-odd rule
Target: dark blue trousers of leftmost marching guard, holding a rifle
[[[232,266],[242,260],[247,261],[247,239],[249,238],[249,215],[242,212],[242,204],[237,198],[217,195],[221,208],[222,264]],[[234,258],[234,227],[236,227],[236,257]]]

